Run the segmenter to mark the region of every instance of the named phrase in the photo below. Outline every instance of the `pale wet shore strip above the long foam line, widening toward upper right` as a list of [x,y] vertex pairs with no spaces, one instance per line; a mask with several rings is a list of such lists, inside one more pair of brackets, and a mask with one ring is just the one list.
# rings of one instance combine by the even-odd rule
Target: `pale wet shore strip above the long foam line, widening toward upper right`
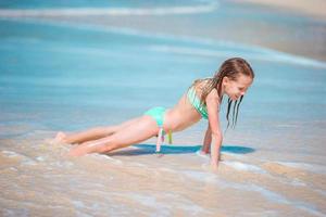
[[[129,15],[39,14],[22,15],[21,18],[239,42],[326,62],[326,13],[323,13],[323,7],[316,5],[326,8],[326,2],[323,3],[322,0],[310,2],[299,0],[299,3],[293,0],[287,2],[222,0],[218,10],[213,13],[173,14],[164,15],[164,18],[153,14],[136,15],[134,12]],[[204,21],[204,16],[211,18],[211,24]]]

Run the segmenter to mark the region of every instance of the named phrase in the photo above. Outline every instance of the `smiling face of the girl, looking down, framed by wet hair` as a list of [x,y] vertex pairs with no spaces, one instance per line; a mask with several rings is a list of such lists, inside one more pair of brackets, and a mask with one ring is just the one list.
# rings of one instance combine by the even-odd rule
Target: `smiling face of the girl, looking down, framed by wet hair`
[[236,80],[224,77],[222,86],[224,88],[224,93],[227,94],[233,101],[236,101],[241,95],[244,95],[251,84],[252,78],[250,76],[239,74]]

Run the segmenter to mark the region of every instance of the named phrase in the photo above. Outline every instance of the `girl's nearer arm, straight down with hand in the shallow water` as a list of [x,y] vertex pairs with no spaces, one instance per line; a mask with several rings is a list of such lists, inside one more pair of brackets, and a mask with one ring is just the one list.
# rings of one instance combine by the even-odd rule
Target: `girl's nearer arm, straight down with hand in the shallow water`
[[218,116],[220,98],[216,89],[213,89],[208,94],[205,102],[206,102],[206,107],[209,113],[209,125],[211,128],[211,137],[212,137],[211,165],[213,168],[217,168],[223,136],[222,136],[220,116]]

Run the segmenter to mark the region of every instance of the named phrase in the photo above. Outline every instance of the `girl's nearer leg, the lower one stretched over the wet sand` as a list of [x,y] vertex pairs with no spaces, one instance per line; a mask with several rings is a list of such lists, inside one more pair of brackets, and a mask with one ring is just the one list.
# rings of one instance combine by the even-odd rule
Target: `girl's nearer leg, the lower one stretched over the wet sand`
[[115,133],[74,146],[70,155],[80,156],[89,153],[105,153],[147,140],[158,135],[156,122],[150,116],[142,116],[133,125],[120,128]]

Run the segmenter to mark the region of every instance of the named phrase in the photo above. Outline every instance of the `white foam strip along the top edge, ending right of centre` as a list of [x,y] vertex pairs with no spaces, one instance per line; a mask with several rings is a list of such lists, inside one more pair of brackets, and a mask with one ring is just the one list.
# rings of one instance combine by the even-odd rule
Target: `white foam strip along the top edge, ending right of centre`
[[197,5],[161,7],[161,8],[61,8],[61,9],[1,9],[0,17],[22,16],[85,16],[85,15],[170,15],[210,13],[217,10],[217,2]]

